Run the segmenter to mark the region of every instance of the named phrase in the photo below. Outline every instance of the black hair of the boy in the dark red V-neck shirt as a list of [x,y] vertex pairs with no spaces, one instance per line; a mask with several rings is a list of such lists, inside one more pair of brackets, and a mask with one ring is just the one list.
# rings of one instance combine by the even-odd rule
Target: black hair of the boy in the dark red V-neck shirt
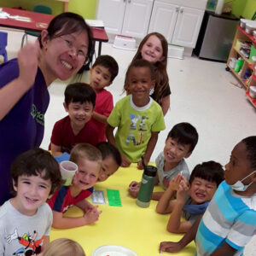
[[68,106],[71,102],[89,102],[95,107],[96,93],[89,84],[75,83],[68,84],[64,92],[65,103]]

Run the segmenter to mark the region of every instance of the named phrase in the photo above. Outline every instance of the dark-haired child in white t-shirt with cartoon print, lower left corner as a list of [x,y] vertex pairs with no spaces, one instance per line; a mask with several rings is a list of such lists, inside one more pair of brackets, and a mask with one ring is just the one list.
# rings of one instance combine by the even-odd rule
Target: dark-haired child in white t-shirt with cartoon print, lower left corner
[[52,224],[45,201],[62,183],[58,163],[34,148],[15,159],[11,173],[15,197],[0,207],[0,255],[39,254],[49,243]]

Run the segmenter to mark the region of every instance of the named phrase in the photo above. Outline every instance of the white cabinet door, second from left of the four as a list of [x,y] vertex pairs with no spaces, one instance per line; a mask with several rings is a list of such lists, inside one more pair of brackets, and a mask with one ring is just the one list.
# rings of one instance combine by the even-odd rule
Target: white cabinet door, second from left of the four
[[126,2],[122,34],[144,38],[148,32],[153,0],[126,0]]

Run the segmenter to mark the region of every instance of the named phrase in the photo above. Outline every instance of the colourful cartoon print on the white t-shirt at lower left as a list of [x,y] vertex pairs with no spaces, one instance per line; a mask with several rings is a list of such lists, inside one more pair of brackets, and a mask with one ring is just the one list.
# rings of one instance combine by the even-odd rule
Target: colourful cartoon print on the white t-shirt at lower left
[[28,256],[28,255],[38,255],[41,253],[41,244],[43,244],[44,236],[41,239],[36,241],[38,233],[34,230],[34,233],[31,235],[29,233],[23,234],[23,236],[18,235],[18,229],[15,228],[12,234],[5,236],[6,241],[10,244],[16,242],[16,239],[20,243],[20,248],[16,250],[13,255],[19,256]]

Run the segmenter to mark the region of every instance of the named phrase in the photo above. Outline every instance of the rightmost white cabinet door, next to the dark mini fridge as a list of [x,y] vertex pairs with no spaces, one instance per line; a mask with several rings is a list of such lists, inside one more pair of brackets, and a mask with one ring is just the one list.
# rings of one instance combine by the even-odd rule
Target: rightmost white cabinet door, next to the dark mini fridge
[[195,48],[204,10],[181,7],[173,33],[172,44]]

